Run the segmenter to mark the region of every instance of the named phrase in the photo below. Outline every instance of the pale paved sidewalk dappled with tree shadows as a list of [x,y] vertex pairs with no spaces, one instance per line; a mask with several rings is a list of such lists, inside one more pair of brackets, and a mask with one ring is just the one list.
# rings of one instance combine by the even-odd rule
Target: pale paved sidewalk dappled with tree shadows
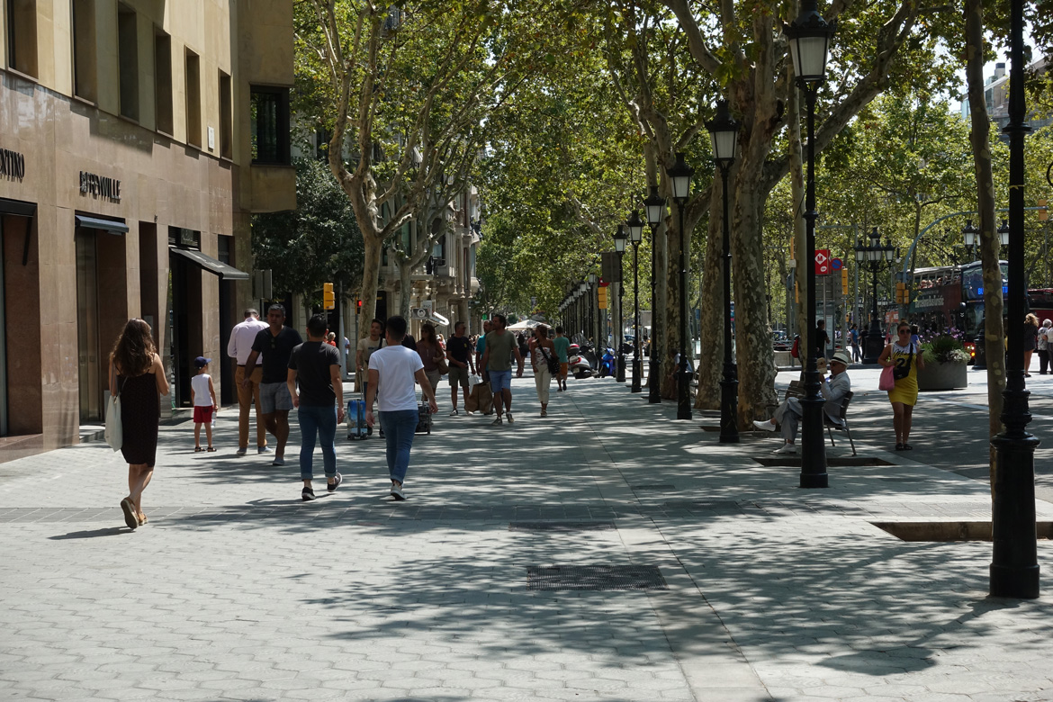
[[[533,380],[514,387],[501,427],[446,417],[442,388],[403,503],[382,443],[342,433],[346,482],[300,502],[298,434],[284,467],[236,457],[236,410],[218,454],[162,427],[135,533],[106,446],[7,464],[0,699],[1053,700],[1048,597],[988,599],[989,543],[871,523],[989,519],[981,481],[861,436],[887,465],[806,492],[756,460],[767,433],[718,444],[711,414],[674,421],[610,379],[542,419]],[[1039,559],[1049,590],[1051,542]],[[532,589],[649,568],[665,589]]]

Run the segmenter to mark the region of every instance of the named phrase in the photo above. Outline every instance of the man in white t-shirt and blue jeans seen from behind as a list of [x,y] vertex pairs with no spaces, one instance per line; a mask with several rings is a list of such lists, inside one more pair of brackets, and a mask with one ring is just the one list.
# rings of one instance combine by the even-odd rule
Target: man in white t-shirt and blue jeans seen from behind
[[[410,467],[410,449],[417,430],[417,392],[414,381],[420,383],[428,398],[429,410],[439,410],[435,389],[424,375],[420,355],[402,345],[406,323],[402,317],[389,317],[384,325],[383,348],[370,356],[370,380],[365,390],[365,423],[373,426],[373,398],[377,397],[380,423],[388,442],[388,472],[392,480],[392,497],[404,500],[402,483]],[[379,389],[379,394],[378,394]]]

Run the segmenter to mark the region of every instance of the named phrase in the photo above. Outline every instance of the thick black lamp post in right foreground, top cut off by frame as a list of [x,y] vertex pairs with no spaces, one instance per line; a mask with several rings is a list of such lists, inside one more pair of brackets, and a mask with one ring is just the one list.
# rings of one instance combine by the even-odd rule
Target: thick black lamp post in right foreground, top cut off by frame
[[[1024,268],[1024,139],[1031,131],[1024,104],[1024,0],[1010,2],[1009,124],[1009,328],[1006,336],[1006,389],[1001,423],[1005,429],[991,440],[995,449],[994,499],[991,502],[992,597],[1038,597],[1038,555],[1035,542],[1035,448],[1038,439],[1028,433],[1031,412],[1024,380],[1024,335],[1027,312]],[[999,232],[1000,233],[1000,232]]]

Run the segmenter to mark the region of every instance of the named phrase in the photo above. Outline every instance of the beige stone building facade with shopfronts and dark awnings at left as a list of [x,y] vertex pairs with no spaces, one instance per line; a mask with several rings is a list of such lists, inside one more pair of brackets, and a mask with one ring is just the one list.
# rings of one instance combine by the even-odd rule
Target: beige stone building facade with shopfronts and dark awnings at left
[[[253,300],[250,217],[296,206],[287,0],[0,4],[0,452],[102,419],[110,349],[141,317],[190,402],[233,396]],[[2,460],[3,456],[0,456]]]

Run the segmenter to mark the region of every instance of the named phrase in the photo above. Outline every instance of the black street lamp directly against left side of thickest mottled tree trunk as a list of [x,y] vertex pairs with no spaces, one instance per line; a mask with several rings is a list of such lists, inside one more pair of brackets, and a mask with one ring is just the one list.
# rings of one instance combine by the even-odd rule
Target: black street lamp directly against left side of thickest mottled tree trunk
[[720,379],[720,442],[738,443],[738,366],[731,355],[731,223],[728,215],[728,174],[735,163],[738,147],[738,122],[728,112],[728,101],[717,102],[716,117],[706,123],[713,146],[713,160],[720,168],[723,183],[723,298],[724,367]]

